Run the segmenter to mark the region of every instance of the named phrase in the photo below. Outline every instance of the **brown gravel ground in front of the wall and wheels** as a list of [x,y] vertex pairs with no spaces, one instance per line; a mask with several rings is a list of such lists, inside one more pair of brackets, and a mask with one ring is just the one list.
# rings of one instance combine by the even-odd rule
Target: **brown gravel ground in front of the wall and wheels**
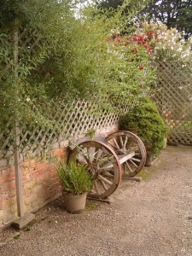
[[167,146],[138,176],[124,178],[111,203],[87,200],[81,214],[58,198],[24,230],[3,230],[0,255],[191,256],[192,148]]

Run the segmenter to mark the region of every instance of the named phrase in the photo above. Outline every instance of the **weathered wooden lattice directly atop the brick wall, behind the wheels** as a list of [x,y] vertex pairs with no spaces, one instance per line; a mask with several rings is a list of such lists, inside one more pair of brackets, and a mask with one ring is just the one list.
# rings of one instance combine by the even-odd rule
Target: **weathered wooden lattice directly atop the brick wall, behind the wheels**
[[[132,107],[130,105],[130,107],[126,106],[127,108]],[[35,126],[20,124],[20,154],[22,154],[22,157],[27,158],[39,154],[43,148],[45,152],[49,151],[51,147],[54,147],[54,144],[68,139],[73,140],[73,138],[82,136],[90,130],[96,131],[105,127],[117,127],[120,119],[118,112],[111,113],[102,109],[102,113],[99,113],[99,111],[96,112],[96,104],[76,100],[72,102],[60,101],[59,106],[55,103],[50,115],[56,121],[56,128],[45,130],[41,124]],[[0,135],[2,142],[1,154],[4,157],[8,152],[9,155],[13,154],[14,150],[13,126],[11,124],[11,122],[8,123],[6,129]]]

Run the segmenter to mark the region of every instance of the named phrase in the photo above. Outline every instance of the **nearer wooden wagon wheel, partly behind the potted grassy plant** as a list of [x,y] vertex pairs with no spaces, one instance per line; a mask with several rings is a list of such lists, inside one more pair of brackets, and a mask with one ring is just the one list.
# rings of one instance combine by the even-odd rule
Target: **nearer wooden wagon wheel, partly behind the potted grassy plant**
[[118,188],[121,166],[113,149],[104,143],[86,141],[80,143],[69,155],[68,161],[76,159],[88,166],[94,178],[89,196],[106,199]]

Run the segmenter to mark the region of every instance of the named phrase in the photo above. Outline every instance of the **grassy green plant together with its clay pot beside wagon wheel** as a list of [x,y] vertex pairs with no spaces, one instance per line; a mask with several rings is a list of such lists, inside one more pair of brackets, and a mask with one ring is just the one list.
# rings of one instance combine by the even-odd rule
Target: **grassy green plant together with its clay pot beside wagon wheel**
[[63,188],[67,212],[83,212],[87,192],[93,185],[93,178],[87,171],[87,166],[76,160],[71,160],[67,164],[59,160],[56,171]]

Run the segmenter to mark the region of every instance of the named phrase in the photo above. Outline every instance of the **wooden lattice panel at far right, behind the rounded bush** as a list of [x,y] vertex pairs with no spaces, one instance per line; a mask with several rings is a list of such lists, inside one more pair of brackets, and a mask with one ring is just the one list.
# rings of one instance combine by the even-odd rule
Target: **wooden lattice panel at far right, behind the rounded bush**
[[192,144],[192,65],[181,61],[156,63],[158,86],[155,102],[170,127],[168,142]]

